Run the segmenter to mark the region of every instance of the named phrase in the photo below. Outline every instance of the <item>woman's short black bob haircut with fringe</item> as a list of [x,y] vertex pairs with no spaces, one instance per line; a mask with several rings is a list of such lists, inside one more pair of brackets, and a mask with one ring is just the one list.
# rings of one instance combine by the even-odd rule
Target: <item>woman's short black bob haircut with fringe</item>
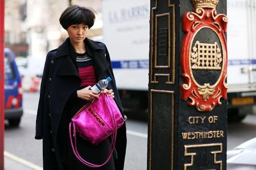
[[89,29],[95,21],[95,11],[86,7],[77,5],[70,6],[61,14],[60,23],[64,29],[67,29],[72,24],[86,24]]

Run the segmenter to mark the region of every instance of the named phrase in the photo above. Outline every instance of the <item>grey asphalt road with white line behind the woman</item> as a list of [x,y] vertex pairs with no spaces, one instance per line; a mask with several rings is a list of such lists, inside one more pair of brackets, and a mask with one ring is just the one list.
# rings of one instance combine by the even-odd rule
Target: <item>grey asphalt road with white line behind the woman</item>
[[[38,93],[24,93],[24,116],[19,128],[6,122],[6,170],[42,169],[42,141],[34,139]],[[140,113],[137,113],[140,114]],[[146,169],[147,123],[127,120],[127,154],[125,170]],[[248,116],[242,123],[229,124],[228,149],[256,137],[256,116]],[[246,133],[245,133],[246,132]],[[17,163],[15,169],[8,169]]]

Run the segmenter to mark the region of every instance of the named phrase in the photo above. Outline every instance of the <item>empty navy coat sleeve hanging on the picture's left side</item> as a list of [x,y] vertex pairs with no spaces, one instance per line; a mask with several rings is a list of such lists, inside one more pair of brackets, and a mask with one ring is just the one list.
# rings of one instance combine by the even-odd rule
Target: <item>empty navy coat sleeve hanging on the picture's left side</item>
[[50,52],[46,56],[45,68],[43,69],[43,76],[40,88],[40,98],[37,108],[37,117],[36,117],[36,135],[35,139],[42,139],[43,138],[43,106],[44,106],[44,98],[45,98],[45,87],[46,87],[46,79],[49,74],[50,70],[50,62],[52,59],[52,55]]

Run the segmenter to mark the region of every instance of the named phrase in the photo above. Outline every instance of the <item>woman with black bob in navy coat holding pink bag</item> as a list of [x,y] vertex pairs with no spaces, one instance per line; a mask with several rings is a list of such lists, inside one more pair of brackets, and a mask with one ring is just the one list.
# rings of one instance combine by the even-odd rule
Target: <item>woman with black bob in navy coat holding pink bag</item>
[[[110,77],[108,89],[102,93],[112,96],[122,113],[109,52],[104,43],[86,38],[93,26],[95,14],[91,9],[71,6],[60,17],[68,38],[57,49],[48,52],[43,71],[40,101],[36,120],[36,139],[43,139],[43,169],[92,169],[83,165],[73,154],[68,137],[68,124],[75,113],[97,96],[90,91],[100,79]],[[115,95],[115,96],[114,96]],[[124,116],[124,114],[122,113]],[[106,161],[110,139],[93,146],[77,137],[78,152],[92,163]],[[115,152],[110,161],[98,169],[124,169],[126,152],[125,124],[117,131]]]

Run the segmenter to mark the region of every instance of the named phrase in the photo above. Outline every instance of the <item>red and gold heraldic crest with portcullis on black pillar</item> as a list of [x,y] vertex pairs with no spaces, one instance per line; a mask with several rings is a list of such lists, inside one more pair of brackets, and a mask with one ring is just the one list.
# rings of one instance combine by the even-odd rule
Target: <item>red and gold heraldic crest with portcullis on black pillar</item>
[[221,97],[227,99],[227,22],[214,8],[183,15],[181,96],[198,111],[209,112],[221,104]]

